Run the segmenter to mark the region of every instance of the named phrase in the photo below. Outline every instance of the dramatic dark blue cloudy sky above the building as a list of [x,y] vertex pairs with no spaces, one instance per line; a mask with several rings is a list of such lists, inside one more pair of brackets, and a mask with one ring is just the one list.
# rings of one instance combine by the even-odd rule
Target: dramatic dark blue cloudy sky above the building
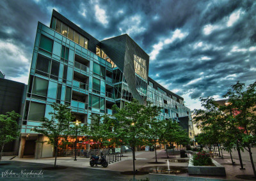
[[127,33],[150,55],[149,76],[200,108],[237,80],[256,78],[256,1],[0,2],[0,70],[28,83],[36,26],[52,9],[98,40]]

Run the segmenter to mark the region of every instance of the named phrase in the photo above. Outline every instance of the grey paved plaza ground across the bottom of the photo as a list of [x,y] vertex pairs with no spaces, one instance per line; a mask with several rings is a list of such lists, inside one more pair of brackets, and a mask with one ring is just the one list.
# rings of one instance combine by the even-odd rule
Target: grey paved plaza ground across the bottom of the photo
[[[155,152],[136,152],[136,170],[143,170],[143,168],[148,166],[166,166],[166,154],[164,150],[157,150],[157,160],[159,162],[164,162],[164,164],[149,164],[149,162],[154,162]],[[33,158],[23,158],[18,159],[14,158],[10,160],[11,157],[3,157],[1,163],[10,163],[6,165],[0,165],[0,171],[12,171],[13,173],[20,173],[21,170],[26,171],[42,171],[42,177],[22,177],[22,178],[2,178],[0,180],[141,180],[149,178],[149,180],[242,180],[236,178],[236,175],[252,175],[252,166],[250,162],[244,161],[245,170],[240,170],[240,166],[232,166],[230,157],[228,154],[224,153],[224,159],[216,158],[215,160],[218,163],[225,166],[227,173],[226,177],[211,177],[211,176],[198,176],[198,175],[188,175],[188,173],[178,173],[178,174],[154,174],[150,173],[148,175],[123,175],[122,171],[131,171],[132,170],[132,154],[124,154],[125,157],[122,157],[122,161],[114,162],[109,164],[108,168],[99,167],[90,167],[88,158],[78,157],[77,161],[74,161],[72,157],[58,157],[57,164],[58,166],[67,166],[68,168],[63,170],[42,170],[42,168],[47,168],[53,166],[54,158],[45,158],[45,159],[33,159]],[[172,156],[172,158],[179,158],[179,155]],[[255,157],[255,153],[253,153]],[[188,159],[188,158],[186,158]],[[239,163],[235,159],[236,163]],[[170,166],[180,166],[182,168],[188,167],[188,162],[184,163],[171,163]]]

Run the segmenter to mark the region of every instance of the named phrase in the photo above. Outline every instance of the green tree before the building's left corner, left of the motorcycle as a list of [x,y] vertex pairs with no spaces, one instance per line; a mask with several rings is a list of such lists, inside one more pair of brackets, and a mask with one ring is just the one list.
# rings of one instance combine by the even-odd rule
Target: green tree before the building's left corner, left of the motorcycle
[[68,127],[73,118],[68,105],[52,103],[51,107],[54,110],[54,112],[49,113],[49,115],[51,115],[51,120],[47,119],[46,117],[42,118],[42,124],[35,127],[34,131],[36,133],[44,134],[49,138],[49,140],[45,142],[54,147],[54,168],[56,168],[58,146],[60,145],[59,141],[61,141],[61,138],[67,140],[69,133]]

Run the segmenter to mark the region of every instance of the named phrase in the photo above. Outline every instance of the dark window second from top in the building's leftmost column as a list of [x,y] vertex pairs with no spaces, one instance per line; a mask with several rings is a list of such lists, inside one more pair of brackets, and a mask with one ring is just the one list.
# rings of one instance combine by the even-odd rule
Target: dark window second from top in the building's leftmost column
[[36,73],[43,76],[48,76],[48,73],[50,73],[50,67],[51,59],[47,59],[46,57],[38,54],[36,60]]

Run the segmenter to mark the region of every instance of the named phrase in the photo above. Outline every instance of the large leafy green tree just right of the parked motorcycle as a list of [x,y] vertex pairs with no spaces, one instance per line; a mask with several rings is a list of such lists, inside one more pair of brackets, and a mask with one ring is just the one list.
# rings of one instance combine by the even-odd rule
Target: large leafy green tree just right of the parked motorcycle
[[146,106],[140,105],[136,99],[132,99],[131,103],[126,103],[124,108],[117,106],[115,110],[115,124],[113,124],[113,135],[116,140],[122,140],[122,143],[129,145],[132,150],[133,173],[135,174],[135,147],[143,145],[146,136],[147,119]]

